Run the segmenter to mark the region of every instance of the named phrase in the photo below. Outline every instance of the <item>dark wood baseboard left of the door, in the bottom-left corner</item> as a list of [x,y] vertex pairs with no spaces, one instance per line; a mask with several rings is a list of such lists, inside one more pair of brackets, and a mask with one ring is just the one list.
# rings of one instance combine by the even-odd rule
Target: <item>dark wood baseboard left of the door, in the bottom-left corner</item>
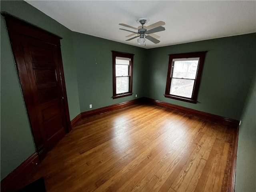
[[15,190],[16,184],[39,163],[39,156],[35,152],[1,181],[1,192],[11,192]]

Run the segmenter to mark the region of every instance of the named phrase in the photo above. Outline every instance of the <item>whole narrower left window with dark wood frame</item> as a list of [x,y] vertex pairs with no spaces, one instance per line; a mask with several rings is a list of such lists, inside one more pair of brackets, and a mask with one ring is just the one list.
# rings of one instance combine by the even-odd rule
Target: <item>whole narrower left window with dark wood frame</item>
[[112,51],[113,99],[132,95],[134,54]]

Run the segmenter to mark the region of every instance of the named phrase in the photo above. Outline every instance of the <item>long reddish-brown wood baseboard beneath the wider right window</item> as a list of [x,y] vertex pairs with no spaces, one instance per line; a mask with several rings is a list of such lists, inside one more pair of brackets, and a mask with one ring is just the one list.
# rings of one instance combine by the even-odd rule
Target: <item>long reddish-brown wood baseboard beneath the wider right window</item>
[[198,111],[198,110],[194,110],[194,109],[158,101],[158,100],[151,99],[151,98],[146,98],[146,100],[148,102],[150,102],[152,104],[156,104],[158,106],[162,106],[162,107],[172,109],[172,110],[175,110],[178,112],[190,114],[190,115],[193,115],[193,116],[196,116],[196,117],[199,117],[202,119],[210,120],[212,122],[216,122],[216,123],[219,123],[222,125],[227,125],[227,126],[231,126],[234,128],[237,128],[239,125],[238,120],[234,120],[234,119],[230,119],[230,118],[226,118],[226,117],[222,117],[222,116],[218,116],[218,115],[214,115],[214,114],[210,114],[210,113],[206,113],[206,112],[202,112],[202,111]]

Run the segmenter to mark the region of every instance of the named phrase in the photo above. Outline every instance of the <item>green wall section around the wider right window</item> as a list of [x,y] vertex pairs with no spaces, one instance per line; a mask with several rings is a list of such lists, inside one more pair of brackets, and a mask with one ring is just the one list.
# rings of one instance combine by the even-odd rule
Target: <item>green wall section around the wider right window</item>
[[[256,34],[246,34],[150,49],[146,82],[149,98],[240,120],[251,77],[256,70]],[[208,51],[198,103],[165,98],[168,54]]]

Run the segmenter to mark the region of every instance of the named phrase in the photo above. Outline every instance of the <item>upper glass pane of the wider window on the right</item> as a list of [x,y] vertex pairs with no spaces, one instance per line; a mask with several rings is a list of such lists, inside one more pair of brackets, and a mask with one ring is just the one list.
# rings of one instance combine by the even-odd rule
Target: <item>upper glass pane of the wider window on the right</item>
[[198,67],[198,60],[174,61],[172,77],[195,79]]

